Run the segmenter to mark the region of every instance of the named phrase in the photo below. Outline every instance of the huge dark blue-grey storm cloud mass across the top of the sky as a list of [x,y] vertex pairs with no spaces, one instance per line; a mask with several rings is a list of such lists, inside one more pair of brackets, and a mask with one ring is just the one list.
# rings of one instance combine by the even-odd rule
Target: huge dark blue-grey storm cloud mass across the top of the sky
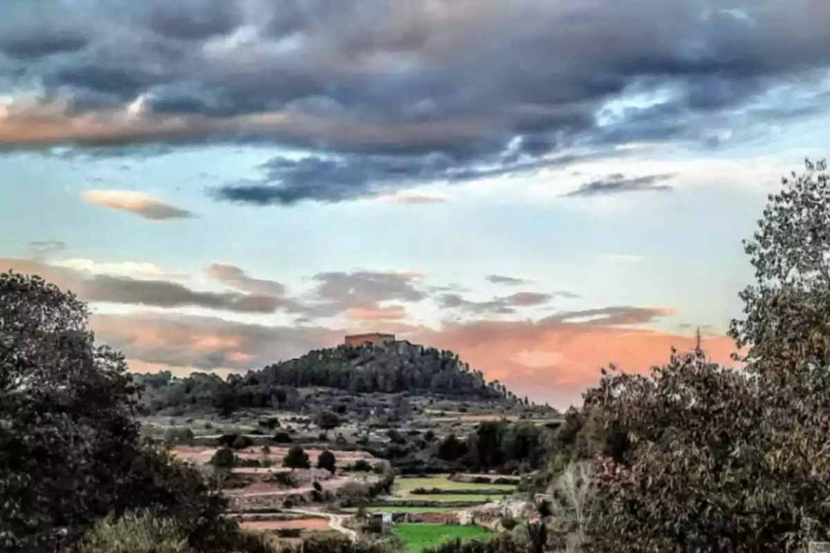
[[[261,205],[512,174],[574,146],[715,147],[713,129],[814,113],[808,95],[753,108],[817,82],[828,24],[819,0],[2,2],[0,94],[41,104],[13,104],[0,144],[309,151],[215,192]],[[108,111],[139,98],[140,116]]]

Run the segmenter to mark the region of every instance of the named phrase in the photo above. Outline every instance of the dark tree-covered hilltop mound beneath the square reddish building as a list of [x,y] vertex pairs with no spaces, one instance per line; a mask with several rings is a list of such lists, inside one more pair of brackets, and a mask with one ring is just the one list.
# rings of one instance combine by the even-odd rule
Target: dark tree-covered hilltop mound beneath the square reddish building
[[266,366],[256,375],[268,384],[329,386],[357,394],[408,391],[515,400],[504,386],[497,381],[488,383],[481,371],[471,370],[456,353],[409,342],[314,350]]

